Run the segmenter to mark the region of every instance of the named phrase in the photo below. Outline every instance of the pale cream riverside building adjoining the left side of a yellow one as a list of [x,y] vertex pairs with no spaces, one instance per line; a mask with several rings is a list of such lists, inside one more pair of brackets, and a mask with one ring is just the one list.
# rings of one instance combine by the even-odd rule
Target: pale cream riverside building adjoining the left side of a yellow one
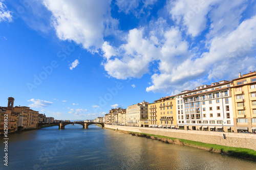
[[147,119],[148,102],[141,102],[135,105],[128,106],[126,110],[126,125],[143,127],[141,119]]

